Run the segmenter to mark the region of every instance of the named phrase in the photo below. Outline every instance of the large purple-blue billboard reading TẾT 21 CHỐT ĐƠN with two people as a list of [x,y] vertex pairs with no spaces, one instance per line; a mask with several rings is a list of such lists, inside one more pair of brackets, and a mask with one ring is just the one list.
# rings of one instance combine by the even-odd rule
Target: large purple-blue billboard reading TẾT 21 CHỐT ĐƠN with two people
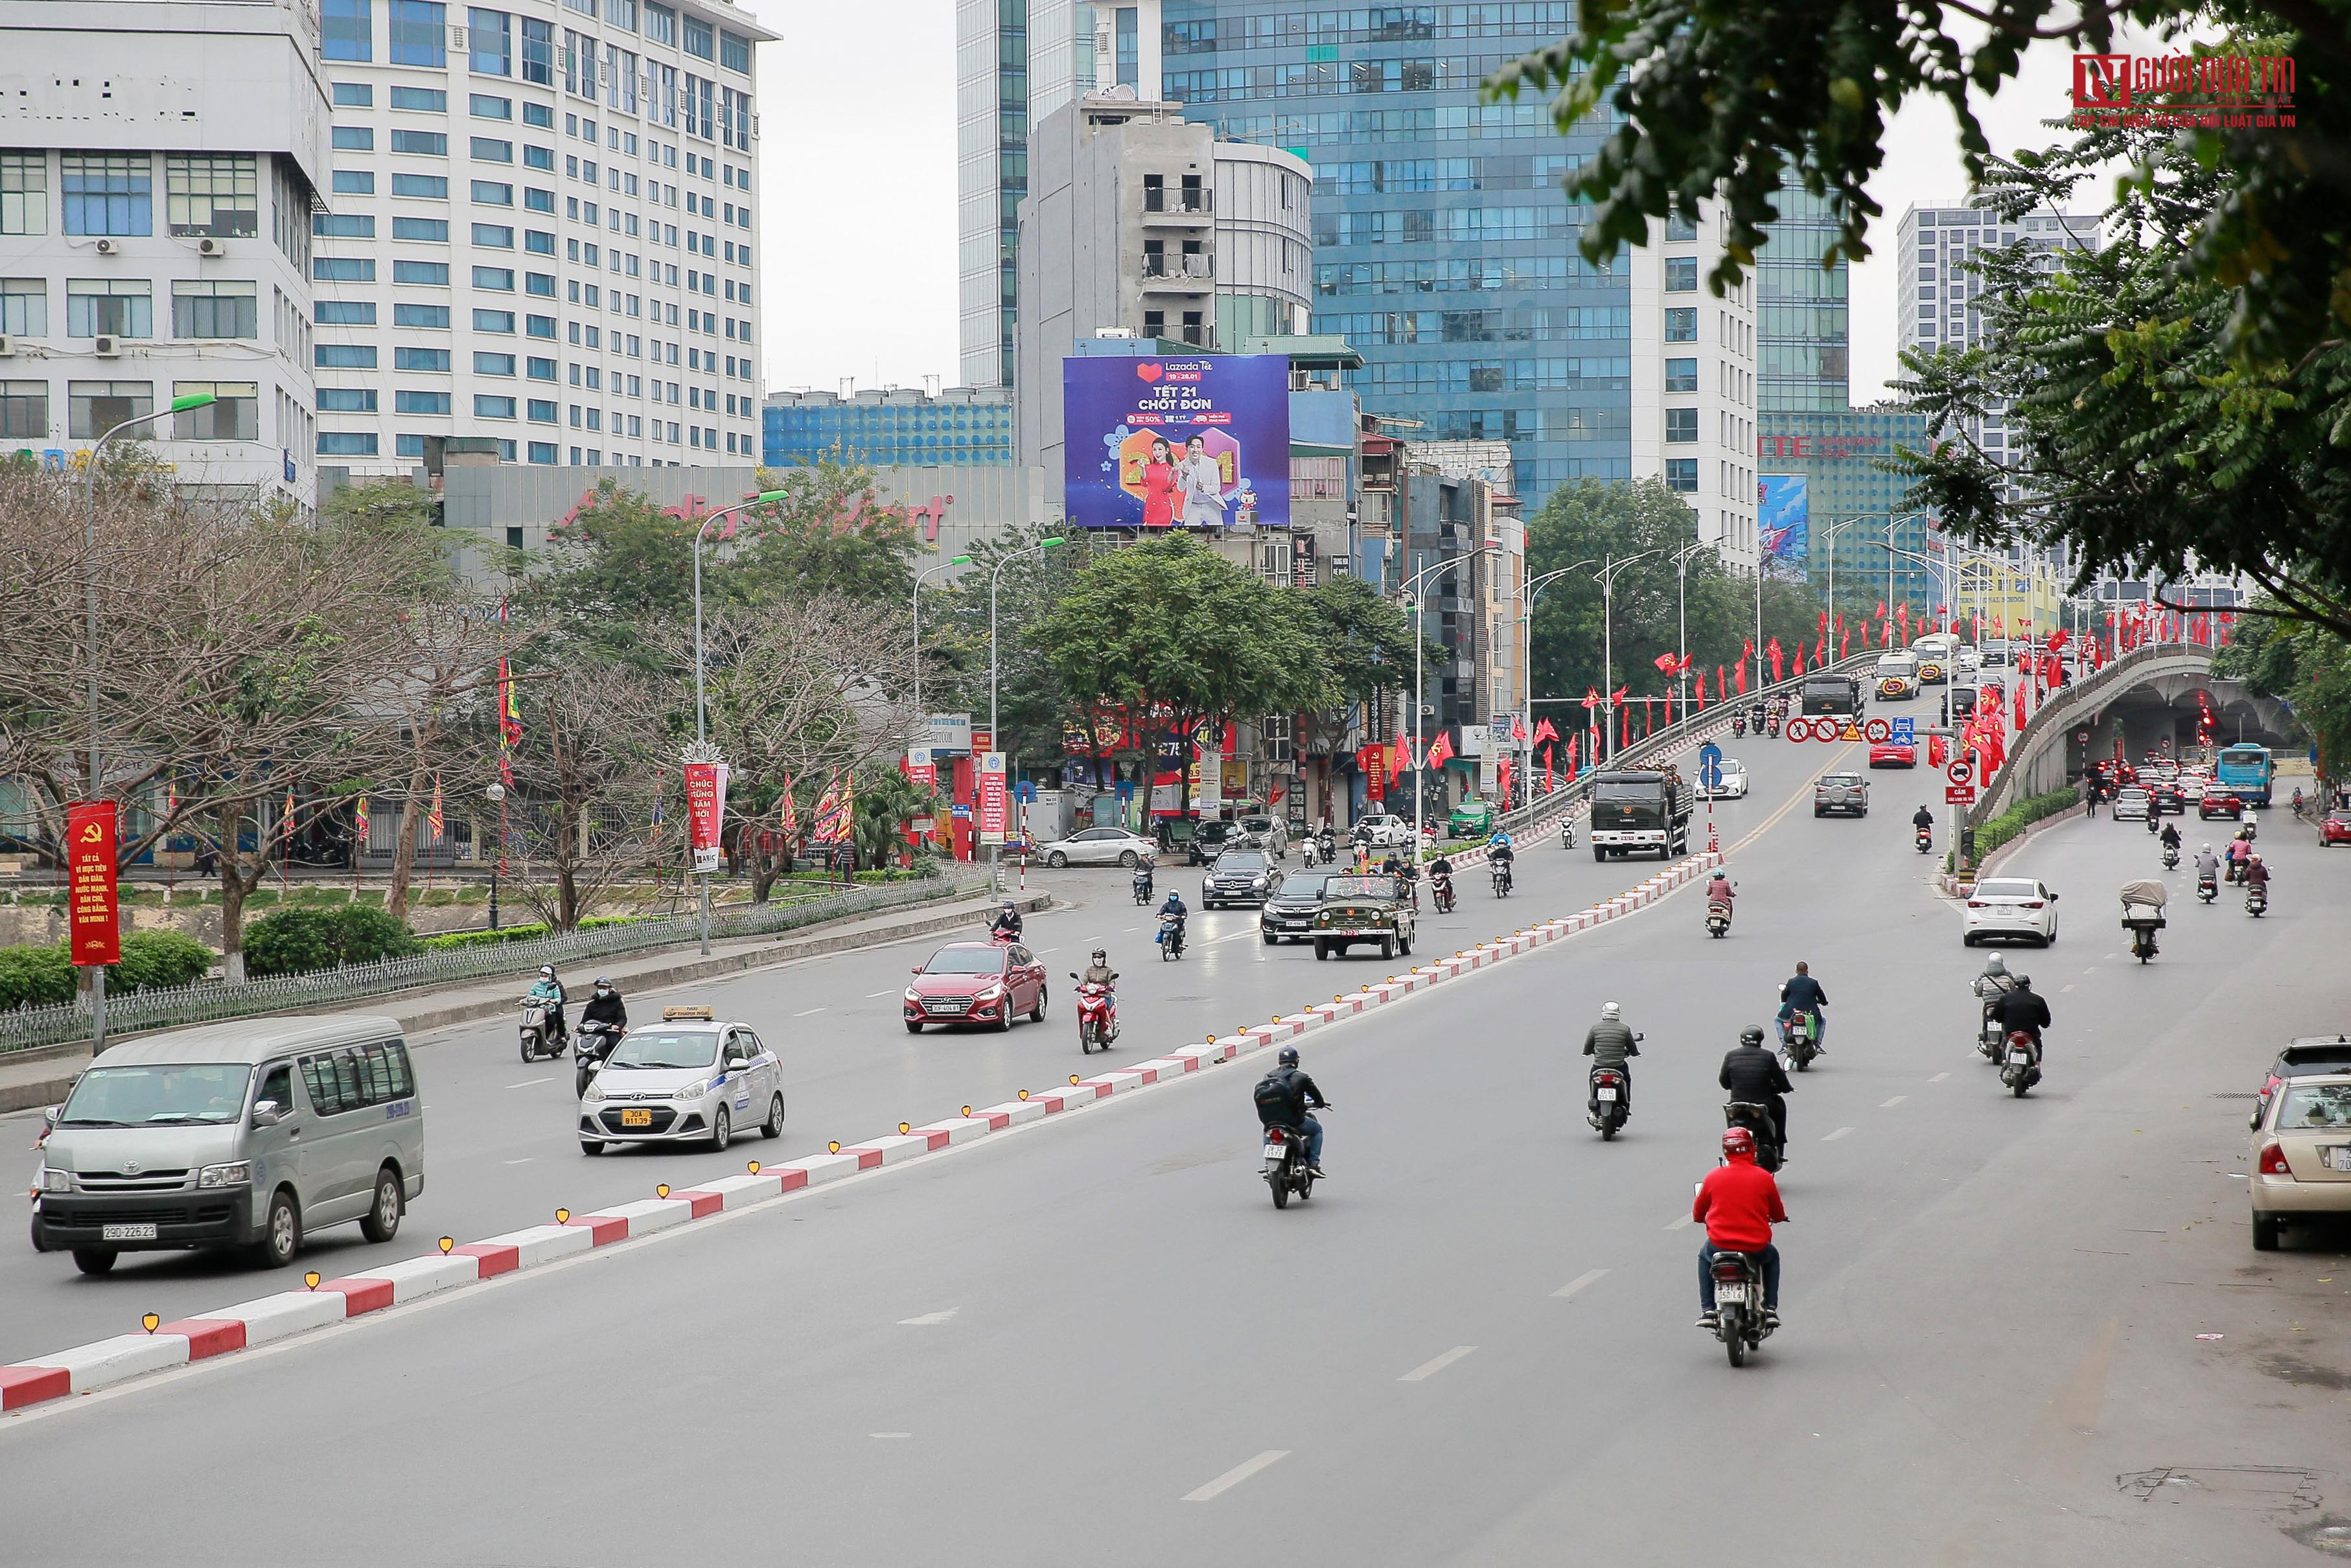
[[1070,527],[1288,527],[1288,355],[1063,360],[1060,407]]

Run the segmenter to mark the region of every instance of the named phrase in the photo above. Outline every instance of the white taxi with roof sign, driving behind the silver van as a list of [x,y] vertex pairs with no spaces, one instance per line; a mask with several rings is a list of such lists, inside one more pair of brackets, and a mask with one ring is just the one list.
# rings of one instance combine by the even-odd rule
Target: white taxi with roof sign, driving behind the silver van
[[630,1030],[581,1093],[581,1152],[614,1143],[698,1143],[724,1150],[736,1131],[783,1138],[783,1063],[748,1023],[708,1006],[665,1006]]

